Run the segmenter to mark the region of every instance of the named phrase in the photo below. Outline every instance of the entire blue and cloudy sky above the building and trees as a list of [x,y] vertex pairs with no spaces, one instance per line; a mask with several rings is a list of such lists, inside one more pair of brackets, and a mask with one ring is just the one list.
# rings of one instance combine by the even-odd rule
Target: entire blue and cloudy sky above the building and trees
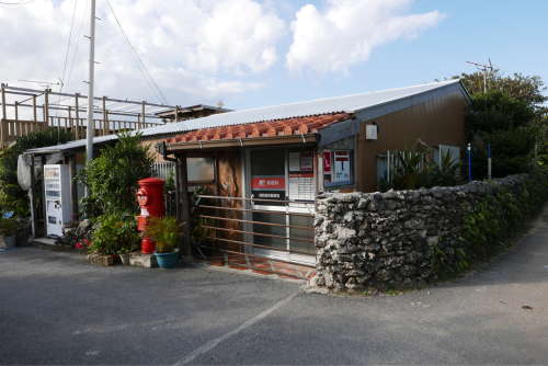
[[[64,79],[87,94],[91,1],[30,1],[0,0],[0,81]],[[403,88],[489,58],[548,81],[545,0],[109,1],[171,105],[247,110]],[[96,16],[95,95],[159,103],[107,0]]]

